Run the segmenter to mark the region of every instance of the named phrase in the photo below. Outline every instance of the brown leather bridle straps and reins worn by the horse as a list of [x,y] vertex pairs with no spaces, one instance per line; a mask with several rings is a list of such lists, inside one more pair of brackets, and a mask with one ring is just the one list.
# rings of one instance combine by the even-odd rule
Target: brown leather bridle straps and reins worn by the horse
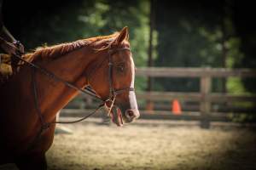
[[[89,116],[92,116],[93,114],[96,113],[96,111],[100,110],[102,108],[102,106],[106,105],[107,103],[111,102],[110,107],[108,107],[108,105],[106,105],[109,109],[108,111],[108,115],[110,114],[110,111],[113,108],[114,105],[114,101],[115,98],[118,94],[123,94],[125,93],[125,91],[134,91],[134,88],[122,88],[122,89],[114,89],[113,88],[113,61],[112,61],[112,55],[115,54],[116,52],[119,51],[123,51],[123,50],[129,50],[131,51],[130,48],[115,48],[113,50],[108,49],[108,82],[109,82],[109,96],[108,99],[104,100],[101,97],[97,96],[96,93],[88,87],[85,87],[84,89],[82,88],[78,88],[77,86],[73,85],[70,82],[67,82],[63,79],[61,79],[61,77],[57,77],[53,72],[47,71],[46,69],[44,69],[43,67],[39,66],[39,65],[35,65],[32,62],[26,61],[25,59],[22,59],[20,57],[20,55],[14,54],[14,56],[18,59],[20,59],[21,61],[25,62],[27,65],[29,65],[32,68],[32,92],[33,92],[33,96],[34,96],[34,101],[35,101],[35,106],[36,106],[36,110],[38,113],[38,117],[39,120],[42,124],[41,129],[36,137],[35,140],[37,140],[41,134],[47,130],[51,124],[56,124],[56,123],[76,123],[76,122],[81,122],[84,121],[84,119],[88,118]],[[37,82],[35,80],[35,73],[36,71],[41,71],[44,75],[46,75],[47,77],[50,77],[52,79],[54,79],[56,82],[62,82],[63,84],[65,84],[68,88],[73,88],[74,90],[78,90],[79,92],[83,93],[83,94],[88,94],[91,97],[97,99],[98,101],[101,101],[102,104],[98,105],[98,107],[96,108],[95,111],[92,111],[89,115],[84,116],[82,118],[80,118],[79,120],[76,121],[72,121],[72,122],[45,122],[44,121],[44,116],[42,114],[42,112],[40,111],[40,107],[38,104],[38,86],[37,86]]]

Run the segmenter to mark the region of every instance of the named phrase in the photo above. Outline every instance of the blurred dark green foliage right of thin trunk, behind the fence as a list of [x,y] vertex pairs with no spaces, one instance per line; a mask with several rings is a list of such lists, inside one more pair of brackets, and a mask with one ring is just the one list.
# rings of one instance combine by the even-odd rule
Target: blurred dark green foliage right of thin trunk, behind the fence
[[[178,1],[157,3],[156,30],[159,33],[155,65],[166,67],[255,67],[253,48],[236,34],[231,1]],[[241,7],[237,7],[241,8]],[[232,11],[233,10],[233,11]],[[241,26],[244,28],[243,26]],[[246,36],[251,46],[255,38]],[[246,54],[249,51],[250,54]],[[212,91],[224,91],[223,79],[212,81]],[[229,93],[255,91],[255,80],[227,80]],[[198,91],[199,82],[189,78],[155,79],[155,90]]]

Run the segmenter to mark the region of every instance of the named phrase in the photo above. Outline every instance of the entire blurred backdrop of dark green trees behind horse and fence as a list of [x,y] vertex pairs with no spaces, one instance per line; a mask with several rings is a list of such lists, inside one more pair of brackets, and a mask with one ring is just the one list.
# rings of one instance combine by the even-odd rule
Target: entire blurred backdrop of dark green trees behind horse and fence
[[[139,67],[148,64],[152,2],[154,66],[255,68],[255,10],[249,0],[5,0],[3,20],[26,51],[129,26]],[[136,86],[146,89],[146,80],[137,78]],[[255,87],[255,80],[229,78],[214,80],[212,90],[255,93]],[[198,91],[199,80],[155,78],[153,90]]]

